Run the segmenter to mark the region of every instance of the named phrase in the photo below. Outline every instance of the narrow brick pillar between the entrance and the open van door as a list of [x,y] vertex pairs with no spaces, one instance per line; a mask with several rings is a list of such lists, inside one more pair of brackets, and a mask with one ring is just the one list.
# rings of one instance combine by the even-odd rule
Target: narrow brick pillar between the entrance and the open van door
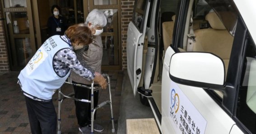
[[135,0],[121,0],[121,54],[122,70],[127,69],[126,39],[128,24],[131,21]]

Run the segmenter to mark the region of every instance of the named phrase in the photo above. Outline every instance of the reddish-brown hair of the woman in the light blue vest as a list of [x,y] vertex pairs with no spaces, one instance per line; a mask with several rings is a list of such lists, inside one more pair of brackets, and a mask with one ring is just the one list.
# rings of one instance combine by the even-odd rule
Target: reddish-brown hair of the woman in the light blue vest
[[82,43],[83,45],[89,45],[93,42],[92,32],[84,23],[70,26],[65,31],[65,35],[72,43],[74,43],[75,40],[79,40],[79,43]]

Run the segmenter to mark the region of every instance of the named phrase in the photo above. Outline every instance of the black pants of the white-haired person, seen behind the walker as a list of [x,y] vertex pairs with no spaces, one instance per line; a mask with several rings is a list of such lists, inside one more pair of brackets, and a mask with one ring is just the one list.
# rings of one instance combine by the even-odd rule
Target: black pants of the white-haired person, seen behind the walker
[[[72,81],[72,83],[76,83]],[[81,83],[79,83],[81,84]],[[84,84],[83,84],[84,85]],[[91,85],[87,85],[91,87]],[[97,86],[97,85],[94,85]],[[79,86],[74,86],[74,97],[79,99],[91,99],[91,90]],[[93,107],[98,105],[98,91],[93,92]],[[75,114],[77,117],[77,122],[79,127],[84,127],[91,124],[91,103],[84,103],[74,101],[75,103]],[[96,118],[96,112],[94,114],[94,119]]]

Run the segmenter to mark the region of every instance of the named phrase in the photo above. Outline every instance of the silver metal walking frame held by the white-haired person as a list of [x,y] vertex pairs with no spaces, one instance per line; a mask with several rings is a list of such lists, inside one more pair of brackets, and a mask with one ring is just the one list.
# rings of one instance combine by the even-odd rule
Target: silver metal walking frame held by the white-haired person
[[[61,88],[58,89],[58,101],[59,101],[59,103],[58,103],[58,134],[61,134],[61,103],[62,103],[62,101],[65,98],[70,98],[70,99],[73,99],[75,101],[84,102],[84,103],[91,103],[91,134],[93,134],[94,113],[96,112],[96,110],[98,108],[103,107],[106,104],[109,104],[110,105],[110,111],[111,111],[112,133],[115,133],[113,110],[112,110],[110,78],[109,78],[109,76],[107,74],[102,74],[102,76],[107,77],[107,85],[108,85],[108,91],[109,91],[109,100],[104,101],[104,102],[98,104],[98,106],[95,107],[95,108],[93,107],[93,92],[101,89],[101,87],[100,86],[93,87],[94,81],[92,82],[91,87],[86,86],[86,85],[72,83],[72,80],[70,80],[70,79],[65,82],[67,84],[71,84],[71,85],[75,85],[75,86],[80,86],[80,87],[84,87],[84,88],[87,88],[87,89],[93,89],[93,90],[91,90],[91,100],[74,98],[74,97],[72,97],[72,96],[74,96],[74,93],[70,93],[70,94],[66,95],[66,94],[63,94],[61,92]],[[63,97],[61,97],[61,95]]]

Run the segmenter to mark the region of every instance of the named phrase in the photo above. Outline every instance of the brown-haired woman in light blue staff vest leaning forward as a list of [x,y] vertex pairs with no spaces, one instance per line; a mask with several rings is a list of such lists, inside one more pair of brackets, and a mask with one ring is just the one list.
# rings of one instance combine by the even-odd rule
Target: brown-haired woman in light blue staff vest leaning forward
[[28,110],[32,134],[55,134],[56,111],[52,95],[70,75],[70,70],[84,80],[94,80],[105,89],[106,79],[98,72],[89,71],[77,60],[74,49],[92,43],[92,33],[84,24],[76,24],[64,36],[51,36],[37,50],[20,72],[21,86]]

